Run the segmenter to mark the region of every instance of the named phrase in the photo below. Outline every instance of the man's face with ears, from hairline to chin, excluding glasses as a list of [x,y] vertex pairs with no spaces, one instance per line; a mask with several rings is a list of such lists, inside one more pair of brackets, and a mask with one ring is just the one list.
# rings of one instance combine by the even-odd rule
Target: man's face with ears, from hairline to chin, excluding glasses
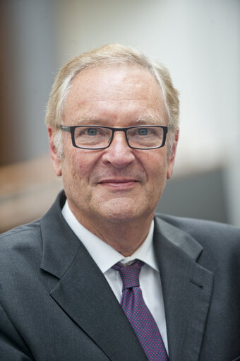
[[[167,125],[167,114],[160,86],[148,71],[114,65],[87,69],[74,78],[63,122]],[[51,144],[51,129],[49,134]],[[83,225],[152,218],[172,174],[174,156],[167,158],[167,144],[154,150],[131,149],[123,131],[115,132],[111,146],[102,150],[74,148],[67,132],[63,142],[62,159],[52,150],[54,170],[62,175],[68,204]]]

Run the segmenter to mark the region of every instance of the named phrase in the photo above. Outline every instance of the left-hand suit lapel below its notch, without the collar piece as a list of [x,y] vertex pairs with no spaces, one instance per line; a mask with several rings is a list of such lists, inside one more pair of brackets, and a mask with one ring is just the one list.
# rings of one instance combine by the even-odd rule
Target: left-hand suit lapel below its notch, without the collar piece
[[82,248],[52,297],[110,360],[146,360],[107,280]]

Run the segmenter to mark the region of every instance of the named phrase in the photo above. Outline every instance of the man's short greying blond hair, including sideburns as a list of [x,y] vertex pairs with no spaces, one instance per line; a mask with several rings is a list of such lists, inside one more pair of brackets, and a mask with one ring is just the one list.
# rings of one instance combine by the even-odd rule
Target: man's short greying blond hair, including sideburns
[[[174,144],[174,135],[179,128],[178,91],[174,88],[169,71],[164,66],[148,59],[148,57],[137,49],[126,47],[124,45],[104,45],[91,52],[85,52],[74,57],[61,68],[56,76],[50,93],[47,105],[46,124],[53,126],[56,130],[59,129],[66,97],[71,88],[73,79],[78,73],[88,68],[112,66],[116,64],[136,64],[142,66],[144,69],[147,69],[159,83],[169,120],[168,153],[171,154],[172,146]],[[56,149],[59,150],[59,154],[62,153],[60,143],[61,132],[57,131],[55,146]]]

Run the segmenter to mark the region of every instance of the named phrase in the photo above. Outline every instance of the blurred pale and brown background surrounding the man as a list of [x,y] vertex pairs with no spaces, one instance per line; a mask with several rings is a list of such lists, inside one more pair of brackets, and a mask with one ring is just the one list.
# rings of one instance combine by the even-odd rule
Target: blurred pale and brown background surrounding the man
[[39,218],[61,189],[44,114],[59,68],[108,42],[167,66],[180,91],[174,177],[157,211],[240,226],[239,0],[3,0],[0,232]]

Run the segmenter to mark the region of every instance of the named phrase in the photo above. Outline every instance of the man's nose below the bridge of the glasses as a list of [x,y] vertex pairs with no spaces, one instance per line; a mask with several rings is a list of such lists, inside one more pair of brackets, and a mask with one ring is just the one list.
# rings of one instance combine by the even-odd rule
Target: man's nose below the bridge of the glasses
[[115,131],[111,145],[104,150],[102,161],[122,169],[133,162],[134,159],[133,149],[128,146],[124,132]]

